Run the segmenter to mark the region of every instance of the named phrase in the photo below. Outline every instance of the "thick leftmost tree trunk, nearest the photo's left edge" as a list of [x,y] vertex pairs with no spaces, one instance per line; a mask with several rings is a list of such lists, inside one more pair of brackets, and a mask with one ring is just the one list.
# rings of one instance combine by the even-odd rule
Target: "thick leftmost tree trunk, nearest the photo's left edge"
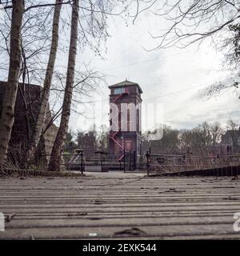
[[6,162],[10,135],[14,124],[14,106],[18,93],[18,80],[21,67],[21,30],[22,16],[24,13],[24,0],[13,0],[12,5],[10,66],[0,117],[0,166],[3,166]]

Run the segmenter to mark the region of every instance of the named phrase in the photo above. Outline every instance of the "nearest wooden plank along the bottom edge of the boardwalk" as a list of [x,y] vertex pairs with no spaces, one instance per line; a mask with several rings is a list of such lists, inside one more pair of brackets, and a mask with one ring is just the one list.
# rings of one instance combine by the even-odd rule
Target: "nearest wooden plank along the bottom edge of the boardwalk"
[[[131,226],[129,226],[131,228]],[[126,230],[126,226],[112,226],[112,227],[63,227],[63,228],[21,228],[8,229],[6,232],[0,234],[1,239],[70,239],[70,238],[92,238],[90,234],[98,234],[96,238],[125,238],[129,235],[116,233]],[[219,235],[219,234],[236,234],[233,226],[230,224],[218,225],[174,225],[174,226],[141,226],[139,227],[144,236],[170,238],[173,236],[197,236],[197,235]],[[131,237],[141,238],[141,235],[133,235]]]

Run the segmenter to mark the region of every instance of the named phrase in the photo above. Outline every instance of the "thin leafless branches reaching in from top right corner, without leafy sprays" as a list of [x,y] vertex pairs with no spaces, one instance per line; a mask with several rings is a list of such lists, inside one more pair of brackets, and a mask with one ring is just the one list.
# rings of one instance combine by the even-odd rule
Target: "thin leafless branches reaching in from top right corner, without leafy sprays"
[[[229,26],[240,18],[240,4],[234,0],[166,0],[150,1],[151,12],[170,22],[161,34],[153,35],[158,39],[154,49],[176,46],[185,48],[205,38],[214,40],[218,34],[229,30]],[[138,10],[141,14],[146,8]]]

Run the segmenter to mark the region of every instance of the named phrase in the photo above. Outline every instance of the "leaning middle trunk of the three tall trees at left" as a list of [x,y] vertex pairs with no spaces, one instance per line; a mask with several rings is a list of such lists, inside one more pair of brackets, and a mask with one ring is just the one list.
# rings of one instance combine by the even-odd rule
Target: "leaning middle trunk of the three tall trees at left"
[[34,127],[34,134],[30,140],[30,144],[26,151],[26,164],[30,162],[30,160],[34,157],[34,153],[37,149],[38,142],[41,138],[42,127],[44,125],[46,119],[46,109],[49,102],[50,96],[50,86],[54,74],[54,66],[58,51],[58,33],[59,33],[59,21],[60,21],[60,13],[62,9],[62,0],[56,0],[56,6],[54,10],[54,22],[53,22],[53,30],[52,30],[52,42],[51,42],[51,50],[50,56],[48,60],[48,65],[46,69],[46,77],[44,81],[44,86],[41,95],[41,106],[38,113],[37,123]]

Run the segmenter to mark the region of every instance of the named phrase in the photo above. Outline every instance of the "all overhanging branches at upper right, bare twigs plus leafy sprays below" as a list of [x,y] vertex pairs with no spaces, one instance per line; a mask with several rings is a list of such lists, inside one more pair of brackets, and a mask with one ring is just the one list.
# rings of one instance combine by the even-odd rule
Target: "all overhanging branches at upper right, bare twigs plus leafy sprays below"
[[[222,50],[226,55],[227,70],[239,71],[240,53],[240,2],[235,0],[152,0],[147,7],[140,7],[135,19],[145,10],[159,18],[164,18],[167,28],[152,34],[151,38],[157,45],[149,50],[166,49],[170,47],[186,48],[193,43],[199,45],[210,39],[216,50]],[[210,97],[222,90],[238,89],[239,75],[234,74],[230,82],[216,82],[206,89]],[[238,95],[239,96],[239,95]]]

